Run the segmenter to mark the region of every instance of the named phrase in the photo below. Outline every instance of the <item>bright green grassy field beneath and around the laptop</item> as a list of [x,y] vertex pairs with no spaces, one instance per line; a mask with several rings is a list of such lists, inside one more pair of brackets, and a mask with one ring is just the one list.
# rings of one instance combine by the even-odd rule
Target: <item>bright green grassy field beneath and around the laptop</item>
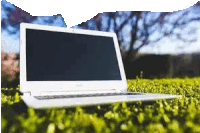
[[1,132],[200,133],[200,77],[127,82],[129,91],[180,94],[182,98],[34,110],[24,105],[18,93],[1,93]]

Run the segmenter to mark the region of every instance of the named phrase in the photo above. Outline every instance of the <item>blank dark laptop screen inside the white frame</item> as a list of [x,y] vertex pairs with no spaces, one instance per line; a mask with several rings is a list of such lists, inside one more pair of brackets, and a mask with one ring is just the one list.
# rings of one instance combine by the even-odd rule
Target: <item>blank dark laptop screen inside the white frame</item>
[[26,29],[27,81],[121,80],[112,37]]

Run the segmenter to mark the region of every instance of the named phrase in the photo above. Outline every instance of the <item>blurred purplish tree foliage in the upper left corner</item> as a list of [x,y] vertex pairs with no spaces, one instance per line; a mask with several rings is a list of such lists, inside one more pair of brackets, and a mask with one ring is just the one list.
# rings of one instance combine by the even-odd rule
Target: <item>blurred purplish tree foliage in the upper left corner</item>
[[[6,16],[1,18],[1,31],[6,30],[10,35],[19,33],[19,26],[21,22],[32,23],[38,18],[42,18],[42,24],[45,23],[51,25],[57,18],[60,17],[63,19],[60,14],[53,16],[32,16],[30,13],[19,7],[7,6],[6,1],[1,1],[1,12],[4,12],[4,16]],[[66,26],[66,24],[64,24],[64,20],[62,21],[63,23],[59,26]]]

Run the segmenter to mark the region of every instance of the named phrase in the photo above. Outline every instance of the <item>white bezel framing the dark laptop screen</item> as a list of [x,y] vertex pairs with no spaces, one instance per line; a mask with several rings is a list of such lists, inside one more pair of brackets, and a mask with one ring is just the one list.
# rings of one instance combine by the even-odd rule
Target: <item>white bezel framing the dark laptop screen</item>
[[[122,80],[117,81],[27,81],[26,80],[26,29],[39,29],[57,32],[78,33],[96,36],[113,37],[117,59],[120,68]],[[122,63],[121,53],[115,33],[83,30],[83,29],[67,29],[63,27],[45,26],[38,24],[21,23],[20,24],[20,91],[21,92],[55,92],[55,91],[88,91],[88,90],[126,90],[126,76]]]

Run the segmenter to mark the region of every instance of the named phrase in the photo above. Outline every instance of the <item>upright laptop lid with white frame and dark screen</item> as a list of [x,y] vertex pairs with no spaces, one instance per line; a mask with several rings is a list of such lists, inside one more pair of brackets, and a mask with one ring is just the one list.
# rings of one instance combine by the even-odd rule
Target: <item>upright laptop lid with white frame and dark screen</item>
[[126,90],[115,33],[20,24],[20,91]]

